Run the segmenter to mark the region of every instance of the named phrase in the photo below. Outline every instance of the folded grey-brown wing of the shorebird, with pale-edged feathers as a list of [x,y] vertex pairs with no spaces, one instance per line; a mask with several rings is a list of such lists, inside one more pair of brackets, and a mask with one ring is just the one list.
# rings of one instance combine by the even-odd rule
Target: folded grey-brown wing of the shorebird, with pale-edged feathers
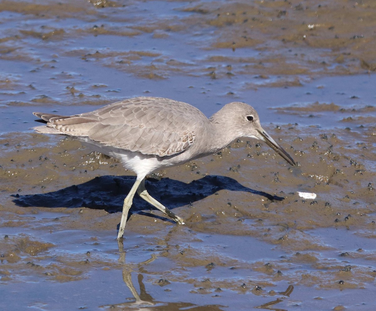
[[77,116],[60,119],[54,116],[49,122],[50,127],[65,134],[163,157],[189,148],[195,130],[209,120],[200,110],[185,103],[138,97]]

